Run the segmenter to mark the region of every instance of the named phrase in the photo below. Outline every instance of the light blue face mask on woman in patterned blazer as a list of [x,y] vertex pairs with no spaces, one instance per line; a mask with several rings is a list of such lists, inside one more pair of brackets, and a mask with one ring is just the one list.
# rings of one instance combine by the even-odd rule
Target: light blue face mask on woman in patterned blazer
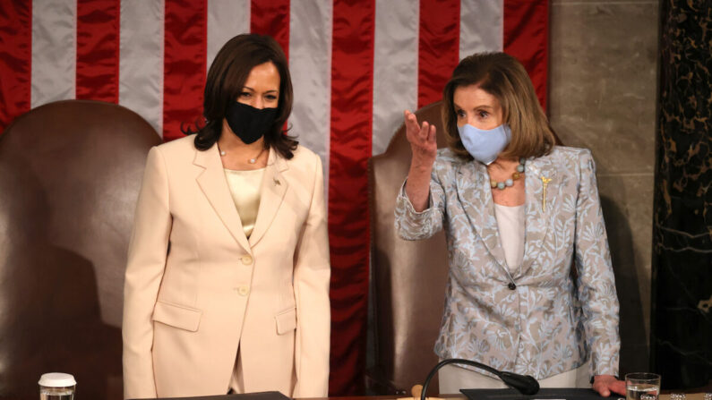
[[492,164],[511,139],[510,126],[506,123],[486,131],[466,123],[458,126],[458,132],[468,153],[487,166]]

